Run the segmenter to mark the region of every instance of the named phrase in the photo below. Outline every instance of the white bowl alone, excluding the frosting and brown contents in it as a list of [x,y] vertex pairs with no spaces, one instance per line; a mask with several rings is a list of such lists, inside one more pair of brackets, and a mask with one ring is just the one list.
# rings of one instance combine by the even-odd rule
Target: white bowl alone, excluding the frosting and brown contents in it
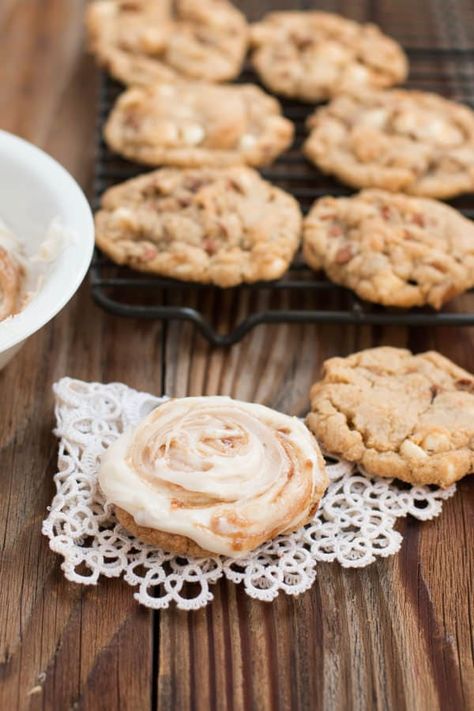
[[94,221],[84,193],[69,173],[39,148],[0,131],[0,218],[37,251],[52,220],[59,218],[72,239],[48,266],[28,305],[0,322],[0,368],[28,336],[55,316],[79,288],[94,248]]

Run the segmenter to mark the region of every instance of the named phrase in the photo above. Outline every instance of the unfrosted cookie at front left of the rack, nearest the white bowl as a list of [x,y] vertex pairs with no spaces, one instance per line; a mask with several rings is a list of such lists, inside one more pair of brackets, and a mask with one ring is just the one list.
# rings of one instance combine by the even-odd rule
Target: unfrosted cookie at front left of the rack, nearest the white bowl
[[279,278],[300,230],[294,198],[244,167],[148,173],[107,190],[96,215],[115,262],[222,287]]

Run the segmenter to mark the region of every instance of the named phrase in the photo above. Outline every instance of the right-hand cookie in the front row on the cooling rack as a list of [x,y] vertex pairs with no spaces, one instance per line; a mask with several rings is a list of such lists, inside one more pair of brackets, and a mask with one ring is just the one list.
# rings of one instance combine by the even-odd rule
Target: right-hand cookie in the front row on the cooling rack
[[303,252],[313,269],[385,306],[439,309],[474,285],[474,223],[427,198],[324,197],[304,221]]

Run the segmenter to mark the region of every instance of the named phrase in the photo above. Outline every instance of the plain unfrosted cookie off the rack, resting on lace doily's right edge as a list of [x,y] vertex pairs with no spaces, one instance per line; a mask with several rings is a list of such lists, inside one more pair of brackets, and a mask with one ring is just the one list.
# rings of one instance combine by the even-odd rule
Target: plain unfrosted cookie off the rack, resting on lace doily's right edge
[[311,410],[321,447],[371,475],[447,487],[474,469],[474,378],[439,353],[331,358]]

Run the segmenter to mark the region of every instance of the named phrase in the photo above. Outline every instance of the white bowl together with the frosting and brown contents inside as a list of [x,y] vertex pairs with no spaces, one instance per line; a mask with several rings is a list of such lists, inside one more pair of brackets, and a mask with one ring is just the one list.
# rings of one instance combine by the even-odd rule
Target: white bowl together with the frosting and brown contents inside
[[0,131],[0,368],[71,299],[93,248],[92,212],[76,181]]

